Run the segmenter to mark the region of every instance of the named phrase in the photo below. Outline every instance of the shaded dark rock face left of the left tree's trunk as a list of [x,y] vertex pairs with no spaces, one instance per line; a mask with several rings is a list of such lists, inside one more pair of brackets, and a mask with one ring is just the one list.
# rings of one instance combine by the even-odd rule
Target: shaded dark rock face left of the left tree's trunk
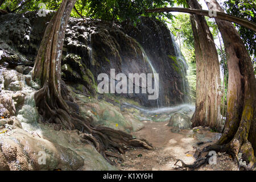
[[35,12],[0,16],[0,64],[34,65],[36,53],[52,13],[39,17]]

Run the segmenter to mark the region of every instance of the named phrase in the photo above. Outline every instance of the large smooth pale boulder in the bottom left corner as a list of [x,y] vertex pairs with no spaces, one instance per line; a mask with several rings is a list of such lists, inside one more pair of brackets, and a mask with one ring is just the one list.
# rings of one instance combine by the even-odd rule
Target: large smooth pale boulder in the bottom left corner
[[[5,120],[0,119],[8,125],[17,122]],[[117,170],[96,148],[82,143],[80,134],[77,130],[56,131],[51,125],[37,124],[37,130],[11,126],[11,130],[0,133],[0,171]]]

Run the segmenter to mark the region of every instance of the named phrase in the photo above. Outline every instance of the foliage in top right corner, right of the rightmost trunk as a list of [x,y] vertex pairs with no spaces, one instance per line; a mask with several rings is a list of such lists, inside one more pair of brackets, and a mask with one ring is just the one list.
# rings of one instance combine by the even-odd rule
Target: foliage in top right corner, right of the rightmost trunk
[[[245,18],[256,23],[256,1],[254,0],[228,0],[224,3],[225,10],[228,14]],[[236,24],[238,31],[245,43],[250,55],[253,56],[253,62],[256,62],[256,34],[239,24]]]

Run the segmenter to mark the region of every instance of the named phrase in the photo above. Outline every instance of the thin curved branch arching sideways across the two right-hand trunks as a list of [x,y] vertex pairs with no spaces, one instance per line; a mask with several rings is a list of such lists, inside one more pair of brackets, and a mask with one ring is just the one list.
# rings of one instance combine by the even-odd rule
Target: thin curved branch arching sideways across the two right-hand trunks
[[[197,14],[197,15],[203,15],[203,16],[209,16],[209,11],[207,10],[199,10],[199,9],[188,9],[188,8],[183,8],[183,7],[162,7],[158,9],[150,9],[150,10],[145,10],[146,13],[163,13],[163,12],[183,12],[183,13],[189,13],[189,14]],[[244,26],[246,28],[249,28],[250,30],[253,30],[256,32],[256,24],[253,22],[250,22],[247,19],[244,18],[238,18],[233,15],[229,15],[222,12],[216,12],[217,16],[214,18],[217,19],[222,19],[222,20],[227,20],[229,22],[234,22],[237,24],[240,24],[241,26]]]

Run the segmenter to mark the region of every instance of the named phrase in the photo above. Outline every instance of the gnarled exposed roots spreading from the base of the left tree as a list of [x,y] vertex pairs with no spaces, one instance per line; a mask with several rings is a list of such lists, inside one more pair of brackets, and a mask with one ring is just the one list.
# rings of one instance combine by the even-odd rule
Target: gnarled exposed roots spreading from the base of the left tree
[[[64,85],[64,82],[61,84]],[[35,93],[35,102],[39,107],[39,114],[44,118],[44,122],[55,123],[58,126],[64,126],[68,130],[77,129],[81,131],[81,142],[92,144],[110,164],[115,165],[107,156],[123,160],[118,154],[124,154],[129,147],[152,150],[152,145],[144,139],[136,139],[133,135],[109,127],[93,127],[90,125],[90,121],[82,118],[77,114],[77,111],[66,104],[64,98],[68,98],[68,92],[65,86],[61,86],[61,94],[65,94],[65,97],[53,97],[49,94],[51,93],[49,90],[47,83]],[[75,105],[74,102],[73,105]]]

